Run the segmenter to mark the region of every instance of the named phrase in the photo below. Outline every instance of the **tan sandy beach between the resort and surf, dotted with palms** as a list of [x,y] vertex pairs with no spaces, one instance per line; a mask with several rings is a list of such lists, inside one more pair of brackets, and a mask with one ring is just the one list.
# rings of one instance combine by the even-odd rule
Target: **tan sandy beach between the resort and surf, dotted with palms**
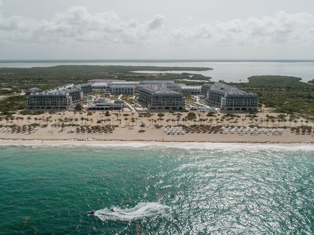
[[[128,120],[124,120],[126,116],[123,116],[124,114],[129,114]],[[258,119],[262,120],[265,119],[265,115],[278,115],[270,112],[266,112],[265,114],[258,114]],[[186,115],[186,114],[183,114]],[[200,114],[200,118],[207,118],[207,122],[209,124],[209,121],[211,117],[206,117],[204,114]],[[221,114],[222,116],[223,114]],[[221,118],[221,116],[219,118]],[[34,123],[34,118],[36,116],[31,116],[30,123]],[[12,143],[22,143],[22,142],[28,142],[28,141],[33,141],[33,142],[41,142],[41,141],[49,141],[49,142],[64,142],[68,143],[69,141],[88,141],[89,143],[91,141],[96,141],[96,142],[102,142],[102,141],[163,141],[163,142],[248,142],[248,143],[313,143],[314,138],[313,135],[311,134],[296,134],[296,133],[291,133],[290,129],[283,129],[282,136],[273,136],[273,135],[266,135],[266,134],[261,134],[257,136],[252,136],[249,133],[245,135],[238,135],[236,133],[228,133],[228,134],[221,134],[221,133],[187,133],[184,135],[167,135],[166,133],[163,132],[163,130],[166,128],[167,125],[172,125],[175,124],[186,124],[186,125],[193,125],[194,121],[185,122],[183,123],[182,120],[179,122],[176,120],[176,116],[173,116],[170,113],[165,113],[165,116],[162,117],[162,126],[160,128],[157,128],[154,124],[154,120],[157,121],[157,113],[154,113],[151,118],[144,118],[144,117],[138,117],[138,113],[133,114],[134,118],[137,118],[136,121],[133,123],[131,122],[131,112],[121,112],[119,117],[116,117],[115,115],[112,115],[109,117],[110,118],[110,124],[116,125],[112,133],[102,133],[102,134],[97,134],[97,133],[77,133],[76,131],[74,133],[69,133],[70,128],[76,128],[76,127],[70,127],[66,126],[65,128],[60,127],[60,124],[62,123],[61,121],[58,121],[58,119],[64,119],[64,118],[72,118],[73,120],[75,118],[78,118],[79,120],[76,121],[78,125],[85,124],[84,120],[80,120],[81,117],[83,118],[92,118],[93,120],[90,121],[92,123],[87,123],[89,125],[99,125],[97,124],[98,120],[105,119],[107,117],[104,117],[103,113],[93,113],[92,116],[87,117],[86,113],[82,114],[73,114],[73,112],[64,112],[64,113],[59,113],[59,114],[44,114],[41,115],[40,117],[45,118],[45,117],[50,117],[50,122],[48,123],[48,127],[37,127],[38,130],[34,132],[28,132],[23,133],[11,133],[11,132],[0,132],[0,143],[7,143],[7,142],[12,142]],[[37,116],[39,118],[39,116]],[[118,119],[121,119],[119,122]],[[175,119],[174,121],[168,121],[168,124],[166,123],[167,119]],[[222,124],[221,121],[215,120],[217,119],[216,117],[212,118],[211,120],[211,126],[215,126],[216,124],[220,125]],[[218,123],[216,123],[216,121]],[[224,120],[225,121],[225,120]],[[235,120],[234,120],[235,121]],[[17,120],[13,120],[14,123],[17,122]],[[146,131],[140,132],[140,124],[141,123],[146,124]],[[159,120],[159,123],[161,120]],[[226,122],[226,121],[225,121]],[[241,114],[241,118],[237,118],[237,125],[238,126],[244,126],[247,127],[251,123],[251,120],[249,118],[245,118],[244,114]],[[38,120],[37,120],[38,123]],[[46,122],[45,122],[46,123]],[[45,124],[42,122],[42,124]],[[51,126],[56,123],[59,125],[58,128],[56,128],[53,132],[50,132]],[[72,121],[74,123],[74,121]],[[158,123],[158,121],[157,121]],[[17,125],[21,125],[21,120],[19,123],[16,123]],[[28,124],[28,121],[24,120],[23,124]],[[108,124],[108,122],[106,123]],[[196,124],[199,125],[200,121],[196,121]],[[278,126],[278,121],[275,123],[272,123],[269,121],[268,127],[279,127]],[[282,123],[283,124],[283,123]],[[299,126],[301,123],[300,121],[298,123],[289,123],[287,121],[286,126],[289,127],[289,124],[291,127],[294,126]],[[298,125],[297,125],[298,124]],[[305,123],[304,123],[305,124]],[[119,125],[119,126],[117,126]],[[235,123],[232,123],[230,121],[229,125],[235,125]],[[313,126],[313,123],[309,122],[307,123],[308,126]],[[263,121],[262,123],[263,127],[266,127],[266,122]]]

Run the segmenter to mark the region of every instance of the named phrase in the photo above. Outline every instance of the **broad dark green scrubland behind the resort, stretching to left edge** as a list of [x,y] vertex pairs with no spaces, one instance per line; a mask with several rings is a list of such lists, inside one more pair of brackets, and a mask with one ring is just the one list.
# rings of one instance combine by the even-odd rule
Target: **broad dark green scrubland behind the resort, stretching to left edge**
[[[162,73],[152,76],[132,71],[206,71],[210,68],[193,67],[154,67],[154,66],[75,66],[62,65],[54,67],[34,68],[0,68],[1,88],[12,88],[13,92],[20,89],[38,87],[42,90],[51,89],[66,83],[84,83],[90,79],[125,79],[138,80],[169,80],[189,79],[188,75]],[[3,93],[7,93],[3,91]]]

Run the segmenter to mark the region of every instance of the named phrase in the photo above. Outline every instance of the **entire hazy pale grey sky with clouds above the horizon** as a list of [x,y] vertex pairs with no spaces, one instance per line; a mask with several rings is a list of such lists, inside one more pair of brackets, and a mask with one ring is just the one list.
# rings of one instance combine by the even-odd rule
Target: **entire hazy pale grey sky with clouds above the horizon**
[[314,0],[0,0],[14,59],[314,59]]

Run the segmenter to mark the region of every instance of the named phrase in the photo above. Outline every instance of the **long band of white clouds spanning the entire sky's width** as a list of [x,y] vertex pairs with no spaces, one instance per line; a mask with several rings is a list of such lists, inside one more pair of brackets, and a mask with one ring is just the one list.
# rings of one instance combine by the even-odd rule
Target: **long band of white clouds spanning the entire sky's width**
[[[314,15],[304,12],[277,12],[273,16],[204,23],[170,31],[164,25],[165,19],[157,14],[146,22],[137,19],[122,21],[114,11],[91,14],[83,6],[70,7],[49,20],[23,16],[3,18],[0,15],[0,43],[263,47],[279,44],[304,46],[314,42]],[[188,17],[189,23],[184,25],[192,24],[192,20]]]

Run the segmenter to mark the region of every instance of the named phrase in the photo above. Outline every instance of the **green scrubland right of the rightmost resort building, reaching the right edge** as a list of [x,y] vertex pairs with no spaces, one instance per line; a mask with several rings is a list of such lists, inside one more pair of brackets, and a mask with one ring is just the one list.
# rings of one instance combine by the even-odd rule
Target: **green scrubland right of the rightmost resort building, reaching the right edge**
[[257,93],[265,107],[275,112],[314,116],[314,86],[299,77],[252,76],[247,83],[228,83],[246,92]]

